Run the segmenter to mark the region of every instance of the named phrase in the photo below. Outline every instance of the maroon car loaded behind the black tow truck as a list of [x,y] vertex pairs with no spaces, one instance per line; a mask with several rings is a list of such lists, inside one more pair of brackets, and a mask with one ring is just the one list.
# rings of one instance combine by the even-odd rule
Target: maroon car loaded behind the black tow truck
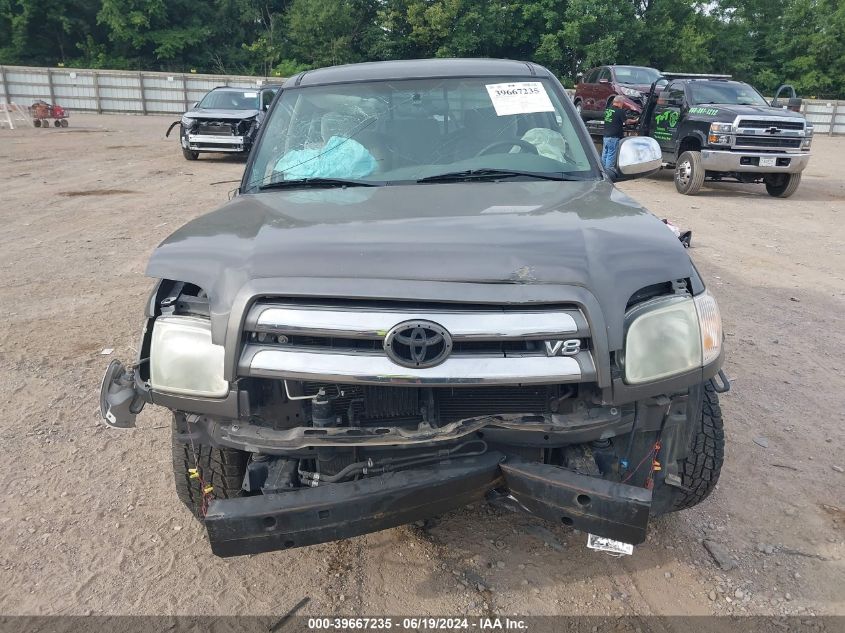
[[573,102],[581,118],[599,119],[610,106],[613,97],[625,100],[629,115],[638,116],[644,97],[660,71],[646,66],[599,66],[588,70],[575,87]]

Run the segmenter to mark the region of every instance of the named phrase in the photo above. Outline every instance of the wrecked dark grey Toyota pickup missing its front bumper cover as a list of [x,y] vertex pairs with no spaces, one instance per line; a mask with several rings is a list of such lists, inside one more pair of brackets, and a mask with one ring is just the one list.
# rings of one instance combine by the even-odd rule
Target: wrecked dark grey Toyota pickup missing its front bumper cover
[[487,499],[628,544],[724,450],[719,308],[532,63],[306,71],[239,194],[167,238],[100,406],[173,415],[176,493],[220,556]]

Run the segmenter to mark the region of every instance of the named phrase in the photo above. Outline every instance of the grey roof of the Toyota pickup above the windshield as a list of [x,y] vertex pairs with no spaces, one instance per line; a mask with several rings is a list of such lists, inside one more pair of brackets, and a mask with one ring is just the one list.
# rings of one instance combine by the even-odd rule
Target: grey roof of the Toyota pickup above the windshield
[[552,77],[552,74],[537,64],[510,59],[410,59],[306,70],[285,81],[284,87],[318,86],[350,81],[487,76]]

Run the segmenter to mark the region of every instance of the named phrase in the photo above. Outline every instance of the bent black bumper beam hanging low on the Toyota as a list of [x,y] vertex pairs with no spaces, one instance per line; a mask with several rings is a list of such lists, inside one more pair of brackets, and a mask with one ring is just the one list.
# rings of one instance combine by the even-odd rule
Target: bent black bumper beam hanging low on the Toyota
[[205,517],[218,556],[359,536],[428,518],[496,491],[529,513],[626,543],[645,540],[651,491],[489,452],[359,481],[214,500]]

